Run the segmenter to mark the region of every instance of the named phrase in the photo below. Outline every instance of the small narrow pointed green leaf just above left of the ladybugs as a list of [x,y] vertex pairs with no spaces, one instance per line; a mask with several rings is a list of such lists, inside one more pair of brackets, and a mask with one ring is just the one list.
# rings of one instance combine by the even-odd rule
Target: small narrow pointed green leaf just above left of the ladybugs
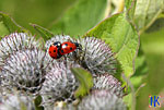
[[39,25],[36,25],[36,24],[31,24],[31,25],[35,28],[35,30],[37,30],[42,35],[42,37],[45,40],[47,40],[54,36],[54,34],[51,32],[49,32],[48,29],[46,29]]

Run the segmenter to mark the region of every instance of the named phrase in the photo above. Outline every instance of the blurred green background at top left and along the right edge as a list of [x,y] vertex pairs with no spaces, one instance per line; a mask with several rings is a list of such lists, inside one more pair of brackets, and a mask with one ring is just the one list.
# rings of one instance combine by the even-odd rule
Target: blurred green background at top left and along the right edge
[[[0,11],[12,16],[21,26],[34,32],[28,23],[49,29],[77,1],[0,0]],[[3,32],[4,28],[0,25],[0,34],[3,35]],[[140,41],[149,71],[142,81],[145,86],[140,89],[137,97],[137,110],[145,110],[149,109],[149,95],[164,96],[164,17],[156,20],[148,30],[142,33]]]

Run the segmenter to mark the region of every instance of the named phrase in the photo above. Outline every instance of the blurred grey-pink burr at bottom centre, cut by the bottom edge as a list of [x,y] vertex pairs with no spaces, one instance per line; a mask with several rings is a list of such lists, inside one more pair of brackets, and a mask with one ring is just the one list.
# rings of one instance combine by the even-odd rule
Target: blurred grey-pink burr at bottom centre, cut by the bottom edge
[[82,99],[79,110],[126,110],[121,98],[110,90],[94,90]]

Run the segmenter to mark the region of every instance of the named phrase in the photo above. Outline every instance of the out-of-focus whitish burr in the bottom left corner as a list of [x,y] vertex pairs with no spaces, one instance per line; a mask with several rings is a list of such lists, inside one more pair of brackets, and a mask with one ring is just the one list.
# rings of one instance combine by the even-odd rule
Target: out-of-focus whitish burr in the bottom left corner
[[0,110],[35,110],[33,98],[17,91],[0,94]]

